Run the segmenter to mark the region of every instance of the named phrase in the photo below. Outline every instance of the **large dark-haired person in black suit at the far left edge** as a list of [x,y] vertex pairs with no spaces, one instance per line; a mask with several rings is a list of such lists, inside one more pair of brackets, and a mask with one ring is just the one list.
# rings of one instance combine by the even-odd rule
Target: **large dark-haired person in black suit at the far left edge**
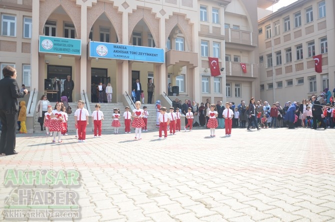
[[20,92],[15,80],[15,68],[6,65],[2,69],[4,78],[0,80],[0,121],[2,131],[0,136],[0,153],[6,155],[17,154],[15,151],[16,122],[18,101],[17,98],[23,97],[28,93],[27,89]]

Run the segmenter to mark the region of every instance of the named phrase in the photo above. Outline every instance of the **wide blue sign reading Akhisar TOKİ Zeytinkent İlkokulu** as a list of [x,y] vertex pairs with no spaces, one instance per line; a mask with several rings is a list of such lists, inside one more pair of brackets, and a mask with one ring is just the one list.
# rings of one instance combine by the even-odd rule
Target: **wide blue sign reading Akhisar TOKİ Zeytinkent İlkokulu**
[[89,57],[164,63],[164,49],[89,41]]

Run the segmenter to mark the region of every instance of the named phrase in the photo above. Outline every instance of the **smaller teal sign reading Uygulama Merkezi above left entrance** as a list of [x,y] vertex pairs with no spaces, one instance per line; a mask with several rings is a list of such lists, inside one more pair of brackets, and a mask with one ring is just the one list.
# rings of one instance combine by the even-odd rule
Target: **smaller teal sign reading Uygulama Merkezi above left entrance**
[[38,52],[81,55],[81,39],[39,35]]

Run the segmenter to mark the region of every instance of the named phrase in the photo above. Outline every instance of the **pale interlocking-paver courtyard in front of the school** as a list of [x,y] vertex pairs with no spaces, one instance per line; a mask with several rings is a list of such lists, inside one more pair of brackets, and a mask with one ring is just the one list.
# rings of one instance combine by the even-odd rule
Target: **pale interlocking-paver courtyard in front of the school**
[[[224,129],[111,134],[51,143],[42,133],[17,135],[6,169],[73,169],[76,221],[335,221],[335,129]],[[39,186],[24,188],[39,188]],[[14,186],[0,184],[4,199]],[[44,187],[45,188],[45,187]],[[27,220],[27,219],[25,219]],[[48,221],[48,219],[44,219]],[[14,219],[15,221],[15,219]]]

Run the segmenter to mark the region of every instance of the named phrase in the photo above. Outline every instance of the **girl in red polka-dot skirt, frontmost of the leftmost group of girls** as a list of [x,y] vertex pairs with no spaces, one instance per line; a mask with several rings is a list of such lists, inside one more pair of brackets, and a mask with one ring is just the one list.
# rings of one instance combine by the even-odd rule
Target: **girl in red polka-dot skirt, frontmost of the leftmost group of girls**
[[56,142],[56,134],[58,133],[58,142],[63,142],[60,139],[61,130],[63,129],[63,119],[64,113],[61,111],[62,102],[57,102],[54,109],[52,110],[52,114],[50,115],[51,119],[49,120],[49,131],[53,132],[52,142]]

